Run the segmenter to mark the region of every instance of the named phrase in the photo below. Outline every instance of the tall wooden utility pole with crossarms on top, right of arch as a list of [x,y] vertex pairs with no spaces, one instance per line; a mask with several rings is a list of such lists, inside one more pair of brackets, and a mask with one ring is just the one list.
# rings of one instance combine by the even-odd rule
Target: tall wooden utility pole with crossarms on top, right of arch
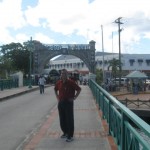
[[120,25],[123,24],[120,22],[122,17],[119,17],[118,19],[115,20],[115,23],[118,24],[118,34],[119,34],[119,86],[121,86],[121,74],[122,74],[122,68],[121,68],[121,42],[120,42],[120,32],[122,29],[120,29]]

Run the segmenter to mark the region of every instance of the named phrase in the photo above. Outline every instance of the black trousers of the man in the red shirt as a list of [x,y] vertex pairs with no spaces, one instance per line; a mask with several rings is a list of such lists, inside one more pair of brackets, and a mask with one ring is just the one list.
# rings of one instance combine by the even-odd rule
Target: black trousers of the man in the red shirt
[[58,103],[60,127],[64,134],[73,137],[74,134],[74,113],[73,101],[60,101]]

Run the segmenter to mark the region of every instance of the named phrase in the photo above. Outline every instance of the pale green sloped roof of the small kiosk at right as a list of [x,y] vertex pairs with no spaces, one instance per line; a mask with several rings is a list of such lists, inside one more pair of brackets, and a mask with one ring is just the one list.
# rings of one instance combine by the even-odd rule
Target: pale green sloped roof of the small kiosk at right
[[129,73],[126,78],[129,79],[146,79],[148,78],[147,75],[145,75],[145,73],[140,72],[140,71],[132,71],[131,73]]

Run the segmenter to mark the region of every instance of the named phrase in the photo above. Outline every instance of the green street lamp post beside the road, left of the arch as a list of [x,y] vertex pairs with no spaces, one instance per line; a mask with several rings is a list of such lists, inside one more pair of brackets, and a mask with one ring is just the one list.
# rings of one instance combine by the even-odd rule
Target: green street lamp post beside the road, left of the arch
[[29,41],[29,50],[30,50],[30,69],[29,69],[29,88],[32,88],[32,79],[31,79],[31,72],[32,72],[32,68],[31,68],[31,64],[32,64],[32,37],[30,38]]

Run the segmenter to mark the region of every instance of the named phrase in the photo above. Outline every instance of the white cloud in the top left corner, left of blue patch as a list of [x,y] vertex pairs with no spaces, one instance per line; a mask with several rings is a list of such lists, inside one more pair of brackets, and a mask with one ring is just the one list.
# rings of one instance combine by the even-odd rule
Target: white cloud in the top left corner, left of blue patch
[[0,43],[8,44],[15,41],[10,30],[24,26],[25,20],[21,11],[21,0],[3,0],[0,2]]

